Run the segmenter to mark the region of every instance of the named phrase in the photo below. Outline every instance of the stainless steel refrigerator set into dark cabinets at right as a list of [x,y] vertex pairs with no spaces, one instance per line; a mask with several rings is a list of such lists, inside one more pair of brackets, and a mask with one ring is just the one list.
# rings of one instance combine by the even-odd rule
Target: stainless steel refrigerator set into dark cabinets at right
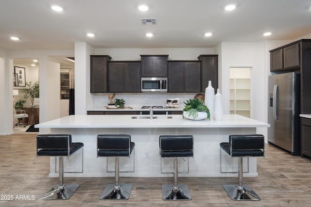
[[300,155],[300,74],[269,76],[268,142]]

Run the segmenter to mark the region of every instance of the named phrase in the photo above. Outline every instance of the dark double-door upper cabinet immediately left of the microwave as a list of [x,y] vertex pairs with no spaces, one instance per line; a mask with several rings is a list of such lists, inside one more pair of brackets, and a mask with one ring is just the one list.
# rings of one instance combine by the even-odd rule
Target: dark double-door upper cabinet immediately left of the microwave
[[140,61],[108,62],[109,93],[138,93],[140,89]]

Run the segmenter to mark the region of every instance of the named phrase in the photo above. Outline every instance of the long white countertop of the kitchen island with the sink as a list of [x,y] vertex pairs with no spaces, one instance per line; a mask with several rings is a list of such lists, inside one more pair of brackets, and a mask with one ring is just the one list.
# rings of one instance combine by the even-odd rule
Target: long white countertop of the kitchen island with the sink
[[[132,119],[136,115],[70,115],[35,125],[36,128],[217,128],[270,127],[240,115],[225,114],[222,121],[183,119],[182,115],[154,115],[157,119]],[[138,115],[144,116],[144,115]]]

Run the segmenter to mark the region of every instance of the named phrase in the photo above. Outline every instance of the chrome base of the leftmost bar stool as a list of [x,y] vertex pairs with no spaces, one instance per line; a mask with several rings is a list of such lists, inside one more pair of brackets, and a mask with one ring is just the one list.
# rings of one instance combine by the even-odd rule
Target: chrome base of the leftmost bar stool
[[48,192],[43,194],[41,200],[67,200],[79,188],[80,185],[54,185]]

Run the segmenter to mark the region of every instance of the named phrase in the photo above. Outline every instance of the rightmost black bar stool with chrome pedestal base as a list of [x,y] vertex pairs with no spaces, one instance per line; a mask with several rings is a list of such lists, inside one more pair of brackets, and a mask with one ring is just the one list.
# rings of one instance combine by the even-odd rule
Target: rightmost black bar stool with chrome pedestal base
[[243,185],[243,157],[264,157],[264,136],[261,134],[229,135],[229,143],[220,143],[231,158],[239,158],[239,185],[224,185],[232,200],[260,201],[260,197],[248,186]]

